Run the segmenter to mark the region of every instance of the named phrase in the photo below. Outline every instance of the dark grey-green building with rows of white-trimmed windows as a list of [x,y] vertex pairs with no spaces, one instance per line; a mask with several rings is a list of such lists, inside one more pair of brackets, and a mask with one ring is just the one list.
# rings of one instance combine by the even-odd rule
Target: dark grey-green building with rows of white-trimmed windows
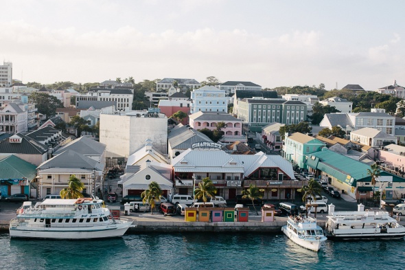
[[297,124],[307,117],[307,106],[301,101],[246,98],[238,103],[238,118],[248,124],[250,131],[261,133],[269,123]]

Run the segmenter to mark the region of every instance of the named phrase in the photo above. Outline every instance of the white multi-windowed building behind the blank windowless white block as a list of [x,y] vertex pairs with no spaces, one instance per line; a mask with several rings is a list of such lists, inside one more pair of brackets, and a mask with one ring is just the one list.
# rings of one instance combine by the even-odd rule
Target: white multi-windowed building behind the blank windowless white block
[[117,111],[130,110],[134,99],[133,89],[120,88],[91,88],[86,94],[76,95],[76,107],[80,101],[115,101]]

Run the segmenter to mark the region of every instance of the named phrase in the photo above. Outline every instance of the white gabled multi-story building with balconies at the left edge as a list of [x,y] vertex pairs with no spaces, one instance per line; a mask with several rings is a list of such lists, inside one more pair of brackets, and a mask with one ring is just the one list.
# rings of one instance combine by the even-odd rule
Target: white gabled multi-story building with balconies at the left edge
[[13,100],[0,108],[0,132],[25,133],[28,131],[28,105]]

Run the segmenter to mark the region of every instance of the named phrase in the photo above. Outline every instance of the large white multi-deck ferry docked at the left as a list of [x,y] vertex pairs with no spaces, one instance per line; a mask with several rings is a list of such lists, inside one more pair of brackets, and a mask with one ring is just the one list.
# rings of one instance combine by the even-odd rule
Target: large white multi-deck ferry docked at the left
[[114,218],[102,200],[47,199],[23,203],[10,221],[10,236],[26,238],[89,239],[125,234],[132,222]]

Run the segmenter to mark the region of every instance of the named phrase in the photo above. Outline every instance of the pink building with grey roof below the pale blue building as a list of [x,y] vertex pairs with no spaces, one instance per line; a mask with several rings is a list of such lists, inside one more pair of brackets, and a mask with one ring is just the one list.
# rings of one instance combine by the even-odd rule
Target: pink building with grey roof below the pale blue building
[[235,142],[236,140],[243,139],[242,137],[242,120],[233,117],[232,115],[220,111],[198,111],[189,115],[189,125],[198,130],[208,128],[213,131],[219,122],[226,124],[222,128],[224,138],[228,142]]

